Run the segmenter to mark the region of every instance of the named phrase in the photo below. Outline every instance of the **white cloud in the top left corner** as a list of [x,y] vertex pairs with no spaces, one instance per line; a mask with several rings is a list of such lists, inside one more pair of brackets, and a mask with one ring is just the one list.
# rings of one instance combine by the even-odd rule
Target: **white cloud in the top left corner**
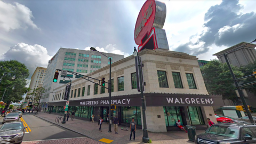
[[0,28],[9,31],[19,28],[38,28],[33,20],[32,12],[19,3],[4,3],[0,1]]

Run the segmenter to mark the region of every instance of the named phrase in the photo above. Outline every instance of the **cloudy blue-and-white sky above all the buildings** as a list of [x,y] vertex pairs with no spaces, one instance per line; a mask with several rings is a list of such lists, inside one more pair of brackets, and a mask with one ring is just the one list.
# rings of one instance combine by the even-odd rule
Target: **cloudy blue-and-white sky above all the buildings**
[[[169,49],[211,60],[227,47],[256,38],[254,0],[168,0]],[[138,47],[134,27],[142,0],[0,0],[0,60],[47,67],[60,47],[123,54]],[[29,79],[28,78],[28,85]]]

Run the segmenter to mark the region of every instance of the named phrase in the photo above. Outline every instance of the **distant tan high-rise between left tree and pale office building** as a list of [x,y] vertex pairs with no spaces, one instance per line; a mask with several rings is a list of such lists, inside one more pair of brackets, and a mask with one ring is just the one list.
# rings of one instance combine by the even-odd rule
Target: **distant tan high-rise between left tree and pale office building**
[[[43,67],[36,68],[36,70],[34,71],[34,74],[31,76],[31,81],[29,84],[30,91],[28,93],[32,93],[33,90],[35,90],[38,87],[41,87],[43,85],[45,74],[46,74],[46,68],[43,68]],[[32,97],[32,95],[26,95],[23,108],[28,106],[28,102],[31,101],[28,99],[30,97]]]

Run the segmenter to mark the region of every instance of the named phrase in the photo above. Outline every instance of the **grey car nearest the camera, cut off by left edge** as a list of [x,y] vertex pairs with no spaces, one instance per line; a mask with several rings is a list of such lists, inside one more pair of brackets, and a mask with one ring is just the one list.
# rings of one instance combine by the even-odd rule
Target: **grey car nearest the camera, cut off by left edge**
[[0,143],[21,143],[25,135],[22,122],[7,122],[0,127]]

